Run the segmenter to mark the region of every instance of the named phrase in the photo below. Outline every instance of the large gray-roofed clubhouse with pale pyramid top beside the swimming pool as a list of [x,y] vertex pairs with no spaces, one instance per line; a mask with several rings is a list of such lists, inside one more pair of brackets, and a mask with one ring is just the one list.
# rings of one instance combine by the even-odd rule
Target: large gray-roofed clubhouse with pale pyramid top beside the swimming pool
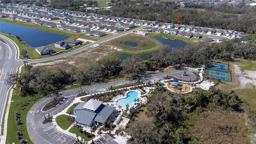
[[98,124],[111,122],[110,117],[114,114],[115,108],[94,99],[90,99],[88,102],[81,102],[73,109],[76,116],[75,122],[79,126],[88,128],[93,126],[94,121]]

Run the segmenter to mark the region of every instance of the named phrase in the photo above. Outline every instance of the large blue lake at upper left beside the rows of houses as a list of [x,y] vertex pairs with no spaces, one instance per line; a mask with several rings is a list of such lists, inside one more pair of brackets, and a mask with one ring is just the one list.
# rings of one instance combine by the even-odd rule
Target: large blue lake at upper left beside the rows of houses
[[61,34],[37,30],[26,26],[20,26],[9,22],[0,21],[1,32],[11,33],[13,36],[19,36],[28,45],[32,47],[46,46],[61,40],[69,38]]

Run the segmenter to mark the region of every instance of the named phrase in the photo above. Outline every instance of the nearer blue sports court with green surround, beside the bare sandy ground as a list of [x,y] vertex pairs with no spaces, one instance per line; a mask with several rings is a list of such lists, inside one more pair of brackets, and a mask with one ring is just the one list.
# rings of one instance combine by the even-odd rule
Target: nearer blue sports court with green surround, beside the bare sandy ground
[[216,72],[213,70],[206,70],[205,76],[209,78],[218,78],[220,80],[225,80],[231,82],[231,76],[230,73],[225,72]]

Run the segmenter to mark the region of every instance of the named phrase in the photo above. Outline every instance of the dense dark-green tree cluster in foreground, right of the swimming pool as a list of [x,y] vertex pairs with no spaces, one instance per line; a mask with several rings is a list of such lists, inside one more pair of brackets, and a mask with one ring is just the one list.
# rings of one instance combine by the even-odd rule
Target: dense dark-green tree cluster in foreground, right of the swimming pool
[[214,87],[208,92],[195,91],[192,96],[186,98],[164,89],[155,90],[152,98],[152,102],[147,106],[148,118],[133,122],[129,127],[129,132],[134,138],[130,142],[132,144],[181,144],[186,134],[183,124],[186,114],[204,108],[209,103],[231,109],[239,104],[234,91],[222,92]]

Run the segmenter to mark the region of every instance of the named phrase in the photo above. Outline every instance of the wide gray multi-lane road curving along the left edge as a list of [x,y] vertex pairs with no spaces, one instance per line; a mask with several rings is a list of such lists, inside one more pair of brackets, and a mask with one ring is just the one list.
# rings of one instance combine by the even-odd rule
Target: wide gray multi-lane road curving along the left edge
[[[0,38],[4,41],[8,41],[4,37]],[[8,73],[17,72],[18,66],[22,64],[22,61],[16,60],[15,56],[16,48],[13,45],[9,47],[7,44],[0,42],[0,71],[2,70],[0,76],[0,124],[2,124],[7,93],[10,88],[10,86],[5,84],[5,79],[8,77]]]

